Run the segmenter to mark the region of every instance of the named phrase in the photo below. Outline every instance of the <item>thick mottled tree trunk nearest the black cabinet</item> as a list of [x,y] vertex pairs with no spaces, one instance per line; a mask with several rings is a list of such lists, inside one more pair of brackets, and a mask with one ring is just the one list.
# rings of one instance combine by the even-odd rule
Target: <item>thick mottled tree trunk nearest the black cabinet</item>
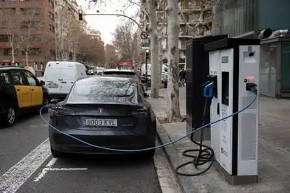
[[167,37],[168,37],[168,97],[167,120],[181,120],[179,108],[179,15],[178,0],[168,0],[167,3]]

